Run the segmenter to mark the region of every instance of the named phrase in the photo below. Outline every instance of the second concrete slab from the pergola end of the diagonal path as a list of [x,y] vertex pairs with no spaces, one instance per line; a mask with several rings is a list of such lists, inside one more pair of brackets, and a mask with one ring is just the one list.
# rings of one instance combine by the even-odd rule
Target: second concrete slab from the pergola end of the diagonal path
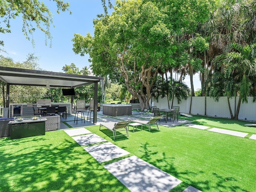
[[72,137],[80,146],[90,145],[94,143],[99,143],[106,141],[105,139],[101,138],[96,134],[88,134],[88,135],[80,135],[76,137]]

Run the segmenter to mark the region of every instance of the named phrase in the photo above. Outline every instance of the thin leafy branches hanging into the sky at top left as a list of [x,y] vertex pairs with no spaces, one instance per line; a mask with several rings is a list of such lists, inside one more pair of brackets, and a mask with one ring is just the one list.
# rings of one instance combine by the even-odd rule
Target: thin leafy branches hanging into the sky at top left
[[[69,3],[64,3],[62,0],[53,1],[56,2],[56,12],[58,14],[60,11],[66,10],[71,14],[71,11],[68,9]],[[17,18],[18,16],[22,17],[22,32],[28,40],[30,40],[30,37],[36,28],[39,28],[44,32],[46,38],[52,39],[50,33],[50,26],[53,24],[52,13],[43,2],[40,2],[39,0],[1,0],[0,23],[4,25],[1,24],[0,33],[10,33],[10,20]],[[33,38],[32,43],[34,44]],[[1,41],[0,44],[3,45],[4,42]]]

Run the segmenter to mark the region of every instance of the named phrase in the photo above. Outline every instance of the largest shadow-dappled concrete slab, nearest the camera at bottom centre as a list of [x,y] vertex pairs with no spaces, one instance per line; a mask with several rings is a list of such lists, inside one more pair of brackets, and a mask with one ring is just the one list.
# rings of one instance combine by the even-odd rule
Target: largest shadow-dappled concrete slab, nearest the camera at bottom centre
[[104,167],[131,192],[168,192],[182,182],[136,156]]

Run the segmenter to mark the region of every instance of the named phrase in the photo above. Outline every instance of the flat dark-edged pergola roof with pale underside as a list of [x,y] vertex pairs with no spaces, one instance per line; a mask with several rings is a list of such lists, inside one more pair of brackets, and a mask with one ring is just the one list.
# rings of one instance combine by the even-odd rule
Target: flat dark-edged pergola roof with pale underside
[[78,87],[103,80],[102,77],[0,66],[0,80],[10,85]]

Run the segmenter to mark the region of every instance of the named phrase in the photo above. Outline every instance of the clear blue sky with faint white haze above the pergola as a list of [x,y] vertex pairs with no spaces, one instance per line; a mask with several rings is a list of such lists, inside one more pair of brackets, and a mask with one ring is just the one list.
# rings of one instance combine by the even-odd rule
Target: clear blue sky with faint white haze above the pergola
[[[70,3],[68,12],[56,13],[56,4],[53,1],[42,0],[48,6],[53,15],[53,24],[50,28],[52,34],[52,47],[50,48],[50,40],[47,40],[45,34],[36,28],[33,34],[35,46],[33,48],[31,40],[27,40],[22,32],[22,20],[16,18],[11,20],[11,33],[0,33],[0,40],[4,41],[3,49],[7,52],[1,54],[12,58],[15,62],[24,62],[29,53],[34,53],[39,58],[38,64],[42,70],[63,72],[62,67],[74,63],[80,70],[87,66],[89,56],[80,56],[72,50],[74,34],[78,33],[83,36],[89,32],[94,35],[93,19],[97,18],[97,14],[104,12],[101,0],[70,0],[64,2]],[[106,0],[106,2],[108,2]],[[114,0],[112,0],[114,2]],[[47,40],[48,45],[45,45]],[[174,75],[173,75],[174,76]],[[175,76],[174,76],[175,77]],[[190,87],[189,76],[186,76],[184,82]],[[194,76],[194,90],[200,88],[199,75]]]

